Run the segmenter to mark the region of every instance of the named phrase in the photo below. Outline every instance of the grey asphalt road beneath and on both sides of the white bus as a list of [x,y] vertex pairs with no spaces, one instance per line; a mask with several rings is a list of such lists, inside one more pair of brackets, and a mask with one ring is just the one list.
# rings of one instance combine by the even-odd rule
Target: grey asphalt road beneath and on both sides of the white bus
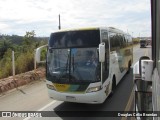
[[[140,56],[151,56],[150,47],[140,48],[134,46],[134,61],[138,61]],[[125,111],[128,108],[131,92],[133,89],[133,75],[130,74],[124,76],[121,82],[116,87],[113,96],[109,97],[104,104],[92,105],[92,104],[79,104],[79,103],[67,103],[61,101],[55,101],[48,97],[45,81],[37,81],[32,84],[20,87],[18,90],[12,90],[4,95],[0,96],[0,111],[76,111],[74,116],[81,116],[78,111],[86,111],[88,117],[65,117],[63,114],[56,113],[57,117],[41,118],[47,120],[121,120],[121,117],[95,117],[101,116],[100,114],[109,114],[104,111]],[[133,101],[132,101],[133,102]],[[132,104],[131,104],[132,105]],[[133,106],[130,107],[132,110]],[[90,112],[89,112],[90,111]],[[93,112],[94,111],[94,112]],[[83,114],[82,114],[83,115]],[[94,116],[94,117],[92,117]],[[104,115],[105,116],[105,115]],[[0,120],[23,120],[25,118],[0,118]],[[33,118],[26,118],[25,120],[39,120]]]

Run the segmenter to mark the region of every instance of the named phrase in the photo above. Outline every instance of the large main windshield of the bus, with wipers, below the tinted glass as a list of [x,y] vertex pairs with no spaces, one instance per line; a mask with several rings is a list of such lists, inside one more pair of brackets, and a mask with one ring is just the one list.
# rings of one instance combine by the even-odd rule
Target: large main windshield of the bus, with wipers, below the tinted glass
[[97,47],[49,49],[47,79],[55,83],[100,81]]

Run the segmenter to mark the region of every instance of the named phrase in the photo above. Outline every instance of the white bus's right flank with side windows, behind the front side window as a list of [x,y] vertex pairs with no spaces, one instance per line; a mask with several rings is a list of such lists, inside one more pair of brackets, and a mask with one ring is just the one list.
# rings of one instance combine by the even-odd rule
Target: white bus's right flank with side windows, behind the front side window
[[133,60],[132,38],[128,34],[110,31],[110,69],[118,84],[130,68]]

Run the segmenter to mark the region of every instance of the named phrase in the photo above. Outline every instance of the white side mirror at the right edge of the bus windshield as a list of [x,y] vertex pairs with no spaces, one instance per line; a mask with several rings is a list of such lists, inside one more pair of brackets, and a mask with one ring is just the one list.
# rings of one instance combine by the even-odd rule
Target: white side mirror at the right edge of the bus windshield
[[99,44],[99,62],[105,62],[105,43]]

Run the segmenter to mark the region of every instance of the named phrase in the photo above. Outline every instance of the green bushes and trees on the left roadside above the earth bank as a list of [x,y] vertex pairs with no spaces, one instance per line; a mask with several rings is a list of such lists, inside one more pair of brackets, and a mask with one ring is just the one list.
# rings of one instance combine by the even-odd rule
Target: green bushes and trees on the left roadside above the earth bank
[[[12,50],[15,51],[15,72],[23,73],[34,69],[34,50],[47,44],[48,38],[35,37],[35,31],[26,32],[24,37],[0,35],[0,78],[12,75]],[[42,58],[45,58],[43,51]]]

